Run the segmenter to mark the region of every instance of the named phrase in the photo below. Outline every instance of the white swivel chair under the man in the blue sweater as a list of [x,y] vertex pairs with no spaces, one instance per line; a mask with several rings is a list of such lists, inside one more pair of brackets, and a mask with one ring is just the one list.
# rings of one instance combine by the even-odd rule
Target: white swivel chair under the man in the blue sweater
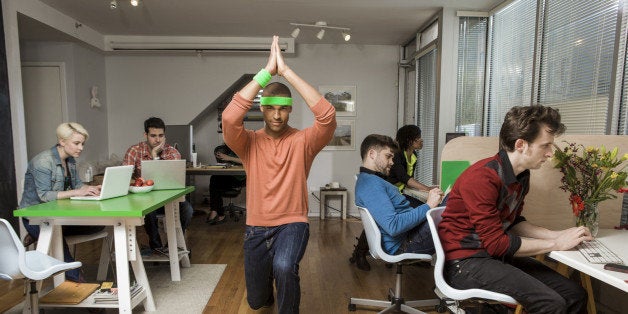
[[395,291],[389,291],[389,300],[370,300],[351,298],[349,301],[349,311],[355,311],[356,305],[380,307],[384,310],[380,313],[390,313],[393,311],[401,311],[404,313],[424,313],[415,309],[415,307],[437,306],[440,304],[439,299],[404,301],[401,296],[401,276],[403,264],[412,264],[416,262],[431,262],[432,256],[429,254],[402,253],[399,255],[389,255],[382,248],[382,235],[377,223],[366,208],[359,207],[362,224],[366,232],[366,239],[369,243],[369,251],[373,258],[381,259],[387,263],[395,263],[397,265],[397,275],[395,282]]

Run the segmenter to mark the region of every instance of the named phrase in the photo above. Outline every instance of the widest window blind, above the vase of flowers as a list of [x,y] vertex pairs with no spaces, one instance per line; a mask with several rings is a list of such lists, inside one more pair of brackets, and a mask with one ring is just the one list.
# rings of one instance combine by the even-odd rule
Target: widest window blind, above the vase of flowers
[[606,134],[617,0],[547,0],[539,104],[559,109],[570,134]]

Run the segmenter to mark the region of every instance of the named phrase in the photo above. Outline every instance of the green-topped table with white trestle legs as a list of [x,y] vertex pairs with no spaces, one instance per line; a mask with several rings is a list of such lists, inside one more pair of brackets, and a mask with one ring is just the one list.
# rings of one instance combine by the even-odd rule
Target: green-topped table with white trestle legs
[[[178,190],[151,191],[141,194],[112,198],[104,201],[56,200],[42,203],[13,212],[17,217],[26,217],[31,224],[39,224],[40,235],[37,250],[63,260],[61,226],[64,225],[101,225],[112,226],[116,257],[116,283],[118,285],[118,304],[94,304],[91,298],[74,307],[113,307],[120,313],[131,313],[140,302],[146,311],[155,310],[155,302],[146,277],[135,237],[135,228],[144,224],[144,216],[165,206],[168,247],[181,247],[187,250],[181,222],[179,220],[179,201],[186,194],[194,191],[194,187]],[[173,281],[181,280],[179,255],[177,250],[170,250],[170,271]],[[129,262],[135,279],[143,287],[143,291],[131,299]],[[187,255],[182,256],[181,264],[190,266]],[[64,275],[55,276],[55,286],[64,281]],[[27,301],[28,302],[28,301]],[[40,306],[54,306],[41,304]],[[58,305],[57,305],[58,306]],[[65,306],[65,305],[63,305]],[[27,305],[30,307],[30,305]]]

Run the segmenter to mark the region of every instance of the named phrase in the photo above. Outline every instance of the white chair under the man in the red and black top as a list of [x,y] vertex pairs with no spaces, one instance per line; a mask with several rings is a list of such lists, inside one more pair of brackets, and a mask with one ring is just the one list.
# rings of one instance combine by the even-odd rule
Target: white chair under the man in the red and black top
[[[432,240],[434,240],[434,248],[436,249],[436,264],[434,265],[434,282],[436,289],[434,292],[443,301],[439,307],[439,312],[449,308],[452,313],[464,314],[465,311],[460,307],[460,303],[465,300],[473,301],[496,301],[498,303],[506,303],[518,305],[517,301],[512,297],[484,289],[465,289],[460,290],[450,286],[443,276],[445,267],[445,251],[438,236],[438,224],[441,221],[441,214],[445,210],[444,206],[432,208],[427,212],[427,222],[430,224],[432,232]],[[515,313],[521,313],[521,306],[517,306]]]

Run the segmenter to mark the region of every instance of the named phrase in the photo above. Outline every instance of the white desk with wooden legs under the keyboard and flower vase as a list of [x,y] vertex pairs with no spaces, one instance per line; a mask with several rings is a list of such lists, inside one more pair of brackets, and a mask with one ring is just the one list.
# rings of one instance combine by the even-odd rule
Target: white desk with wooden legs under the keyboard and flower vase
[[[617,254],[624,263],[628,263],[628,250],[626,250],[626,243],[628,242],[627,230],[600,229],[596,238]],[[567,273],[566,267],[576,269],[583,274],[581,277],[583,279],[582,282],[589,294],[589,314],[596,313],[590,277],[597,278],[617,289],[628,292],[628,283],[625,281],[628,280],[628,274],[605,270],[604,264],[589,263],[582,256],[582,253],[577,250],[553,251],[549,253],[549,257],[564,265],[563,267],[559,265],[558,268],[558,271],[563,275]]]

